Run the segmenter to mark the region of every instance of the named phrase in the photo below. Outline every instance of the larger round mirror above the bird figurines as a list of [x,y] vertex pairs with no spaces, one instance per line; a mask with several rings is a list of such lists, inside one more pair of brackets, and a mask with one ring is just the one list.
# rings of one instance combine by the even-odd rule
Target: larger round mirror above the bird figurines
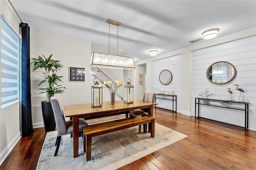
[[214,84],[226,84],[236,76],[236,68],[231,63],[219,61],[208,68],[206,76]]

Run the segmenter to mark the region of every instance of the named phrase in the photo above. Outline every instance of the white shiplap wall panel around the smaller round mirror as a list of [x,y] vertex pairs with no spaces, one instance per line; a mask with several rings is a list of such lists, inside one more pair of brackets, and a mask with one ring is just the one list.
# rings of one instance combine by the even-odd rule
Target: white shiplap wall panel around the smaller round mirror
[[[159,81],[159,74],[164,69],[172,72],[172,82],[168,85],[162,85]],[[152,86],[161,91],[169,91],[162,92],[165,94],[170,93],[171,91],[175,91],[175,95],[177,95],[177,112],[181,113],[182,111],[182,54],[174,55],[171,57],[167,57],[164,59],[158,59],[152,61]],[[152,92],[160,93],[160,91],[154,89],[152,87]],[[172,110],[172,102],[168,100],[162,100],[161,102],[157,102],[157,107],[162,107],[164,109]]]

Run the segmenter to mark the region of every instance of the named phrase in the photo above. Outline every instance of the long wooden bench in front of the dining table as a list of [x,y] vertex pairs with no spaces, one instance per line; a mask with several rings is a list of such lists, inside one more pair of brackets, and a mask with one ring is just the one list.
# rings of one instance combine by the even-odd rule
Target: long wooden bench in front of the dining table
[[149,123],[151,137],[155,137],[155,117],[130,117],[125,119],[118,119],[109,122],[97,123],[82,127],[84,132],[84,152],[86,152],[86,160],[91,160],[92,152],[92,137],[101,134],[122,130],[125,128],[135,127],[138,125]]

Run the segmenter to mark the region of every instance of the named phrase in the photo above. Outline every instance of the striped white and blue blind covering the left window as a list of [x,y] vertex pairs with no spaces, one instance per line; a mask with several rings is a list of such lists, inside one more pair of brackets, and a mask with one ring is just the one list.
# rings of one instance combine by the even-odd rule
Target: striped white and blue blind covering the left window
[[1,19],[1,107],[19,100],[20,37]]

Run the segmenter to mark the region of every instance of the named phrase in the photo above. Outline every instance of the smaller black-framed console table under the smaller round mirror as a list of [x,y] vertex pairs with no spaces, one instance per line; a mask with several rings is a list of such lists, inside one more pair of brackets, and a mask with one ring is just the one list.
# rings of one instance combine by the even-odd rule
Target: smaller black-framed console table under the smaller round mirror
[[[159,100],[159,102],[157,100]],[[176,110],[177,110],[177,96],[176,95],[156,94],[155,102],[160,103],[161,100],[172,101],[172,110],[155,106],[156,109],[161,109],[161,110],[168,111],[168,112],[171,112],[171,113],[176,113]],[[174,103],[175,103],[175,109],[174,109]]]

